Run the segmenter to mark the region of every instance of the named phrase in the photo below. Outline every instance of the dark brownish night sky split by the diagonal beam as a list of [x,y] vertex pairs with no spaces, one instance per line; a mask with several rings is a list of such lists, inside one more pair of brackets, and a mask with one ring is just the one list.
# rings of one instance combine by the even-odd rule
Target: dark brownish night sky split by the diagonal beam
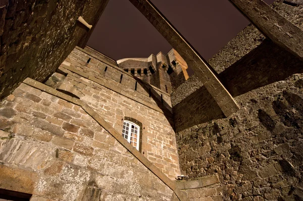
[[[227,0],[151,2],[207,60],[249,24]],[[172,49],[128,0],[110,0],[87,45],[116,60],[167,54]]]

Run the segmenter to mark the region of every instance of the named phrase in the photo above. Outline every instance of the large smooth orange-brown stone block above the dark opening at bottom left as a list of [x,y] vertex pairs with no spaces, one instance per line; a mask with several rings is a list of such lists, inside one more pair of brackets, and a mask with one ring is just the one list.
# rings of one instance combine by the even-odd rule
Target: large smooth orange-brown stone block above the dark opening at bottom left
[[37,174],[0,165],[0,188],[32,194]]

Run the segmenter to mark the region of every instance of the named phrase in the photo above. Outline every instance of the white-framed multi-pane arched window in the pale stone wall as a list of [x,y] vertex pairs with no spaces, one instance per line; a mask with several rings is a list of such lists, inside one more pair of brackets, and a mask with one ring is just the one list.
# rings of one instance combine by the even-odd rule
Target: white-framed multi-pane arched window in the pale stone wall
[[140,136],[140,126],[137,124],[124,120],[122,136],[129,142],[132,146],[134,146],[139,151],[139,136]]

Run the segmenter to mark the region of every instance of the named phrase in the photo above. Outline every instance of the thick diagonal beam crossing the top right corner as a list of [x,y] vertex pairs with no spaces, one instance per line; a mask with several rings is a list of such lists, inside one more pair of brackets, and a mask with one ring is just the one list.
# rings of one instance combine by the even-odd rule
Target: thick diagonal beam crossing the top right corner
[[303,60],[303,31],[300,28],[262,0],[229,1],[266,37]]

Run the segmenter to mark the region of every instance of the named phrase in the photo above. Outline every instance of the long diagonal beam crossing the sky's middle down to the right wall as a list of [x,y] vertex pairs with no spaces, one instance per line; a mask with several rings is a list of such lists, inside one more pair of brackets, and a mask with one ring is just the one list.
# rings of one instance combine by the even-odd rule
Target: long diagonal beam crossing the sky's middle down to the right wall
[[200,81],[216,100],[225,116],[236,112],[239,107],[233,97],[212,72],[208,62],[185,40],[161,12],[148,0],[129,0],[154,25],[162,36],[183,57]]

